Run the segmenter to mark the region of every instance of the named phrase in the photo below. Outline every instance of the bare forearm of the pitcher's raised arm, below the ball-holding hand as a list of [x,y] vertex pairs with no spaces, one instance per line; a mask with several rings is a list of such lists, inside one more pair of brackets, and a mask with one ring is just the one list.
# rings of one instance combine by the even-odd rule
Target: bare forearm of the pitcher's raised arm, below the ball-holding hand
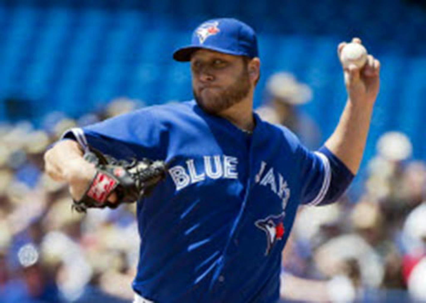
[[346,102],[334,133],[325,146],[355,175],[360,167],[370,127],[373,104]]

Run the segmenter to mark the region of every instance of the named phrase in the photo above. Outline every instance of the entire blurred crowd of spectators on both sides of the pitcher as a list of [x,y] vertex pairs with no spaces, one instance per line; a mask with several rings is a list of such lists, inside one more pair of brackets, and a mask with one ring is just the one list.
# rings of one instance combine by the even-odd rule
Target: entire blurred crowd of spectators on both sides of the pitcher
[[[273,75],[262,118],[283,124],[309,147],[320,132],[299,105],[311,89],[288,73]],[[68,188],[43,173],[43,153],[67,129],[142,107],[113,100],[78,119],[47,115],[0,125],[0,298],[3,302],[129,302],[138,260],[135,205],[71,210]],[[412,159],[403,133],[383,134],[363,192],[324,207],[301,207],[283,251],[282,297],[348,302],[408,290],[426,300],[426,165]]]

